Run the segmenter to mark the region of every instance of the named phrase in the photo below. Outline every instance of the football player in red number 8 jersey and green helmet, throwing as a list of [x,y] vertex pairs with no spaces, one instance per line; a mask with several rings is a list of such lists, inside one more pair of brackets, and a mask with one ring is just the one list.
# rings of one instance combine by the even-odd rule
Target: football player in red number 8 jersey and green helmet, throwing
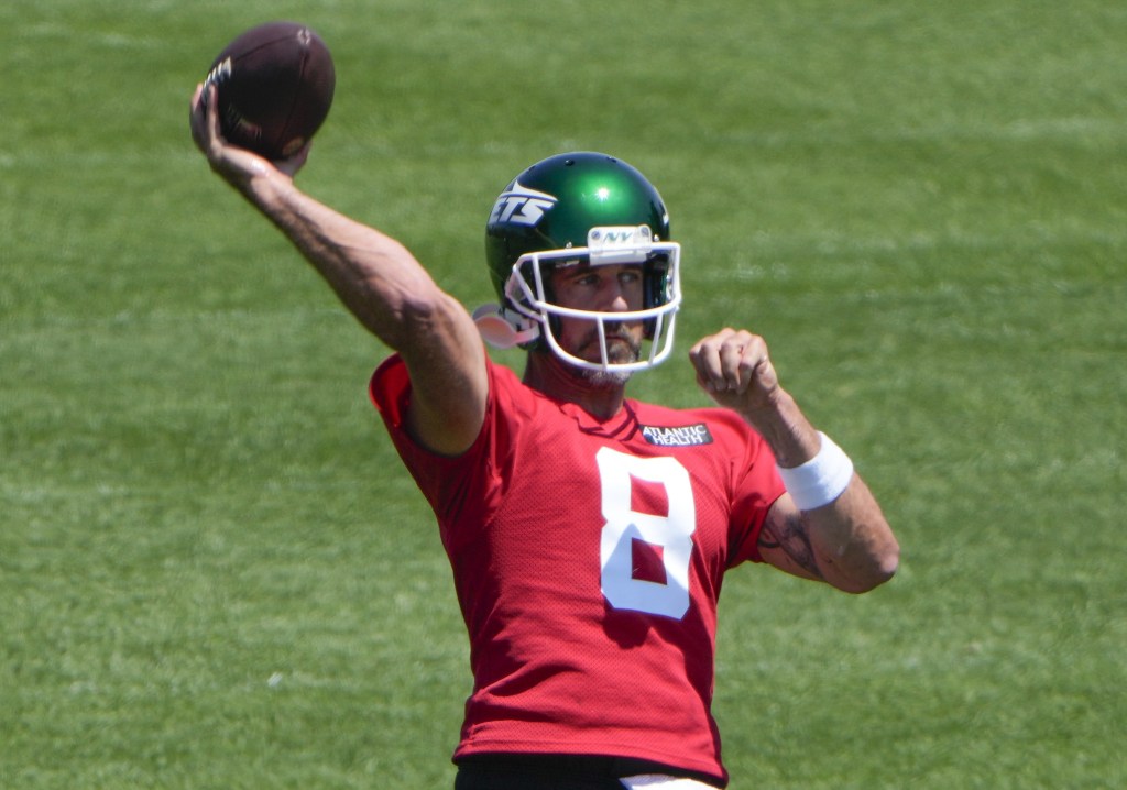
[[[862,593],[898,547],[762,337],[725,328],[692,347],[715,407],[627,397],[669,356],[682,302],[654,186],[601,153],[522,171],[486,225],[498,304],[471,316],[400,242],[294,185],[308,149],[273,165],[234,148],[199,95],[211,167],[394,350],[371,397],[434,509],[470,639],[455,788],[725,787],[725,574],[761,562]],[[482,337],[525,348],[522,374]]]

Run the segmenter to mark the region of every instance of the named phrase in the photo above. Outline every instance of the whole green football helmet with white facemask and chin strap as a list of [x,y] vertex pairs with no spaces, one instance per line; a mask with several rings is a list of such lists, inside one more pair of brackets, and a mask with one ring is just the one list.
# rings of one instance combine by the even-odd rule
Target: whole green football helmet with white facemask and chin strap
[[[681,246],[669,241],[669,215],[657,189],[638,170],[603,153],[550,157],[517,176],[494,204],[486,225],[486,257],[499,309],[474,312],[482,336],[498,347],[544,344],[586,370],[627,372],[653,367],[673,350],[681,304]],[[632,312],[595,312],[553,304],[550,269],[560,264],[641,264],[644,305]],[[600,362],[580,360],[557,341],[558,319],[594,321]],[[648,350],[613,363],[607,323],[641,321]]]

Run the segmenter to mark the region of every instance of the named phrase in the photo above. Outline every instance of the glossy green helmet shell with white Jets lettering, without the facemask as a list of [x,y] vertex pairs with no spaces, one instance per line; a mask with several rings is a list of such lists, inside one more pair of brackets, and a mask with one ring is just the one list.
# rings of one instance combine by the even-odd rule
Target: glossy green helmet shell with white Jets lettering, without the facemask
[[521,256],[585,247],[592,228],[612,225],[648,225],[655,240],[669,240],[665,202],[636,168],[580,151],[524,170],[497,197],[486,224],[486,259],[500,303]]

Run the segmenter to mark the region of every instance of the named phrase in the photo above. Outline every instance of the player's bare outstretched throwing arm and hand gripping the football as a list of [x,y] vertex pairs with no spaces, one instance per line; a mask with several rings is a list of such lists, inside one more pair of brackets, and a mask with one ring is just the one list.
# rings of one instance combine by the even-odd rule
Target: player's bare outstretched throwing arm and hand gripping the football
[[440,453],[467,450],[488,393],[485,348],[469,313],[397,240],[294,185],[308,145],[277,163],[230,145],[219,132],[218,100],[212,96],[204,106],[202,91],[192,99],[192,135],[212,170],[293,242],[365,328],[399,352],[411,376],[408,427],[416,440]]

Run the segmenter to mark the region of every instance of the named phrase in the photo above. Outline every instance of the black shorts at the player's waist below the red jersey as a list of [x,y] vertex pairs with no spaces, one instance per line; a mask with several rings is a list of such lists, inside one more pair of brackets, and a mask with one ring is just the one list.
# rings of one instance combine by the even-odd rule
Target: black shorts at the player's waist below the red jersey
[[646,773],[695,779],[724,787],[716,776],[624,757],[554,754],[480,754],[458,762],[454,790],[624,790],[622,776]]

